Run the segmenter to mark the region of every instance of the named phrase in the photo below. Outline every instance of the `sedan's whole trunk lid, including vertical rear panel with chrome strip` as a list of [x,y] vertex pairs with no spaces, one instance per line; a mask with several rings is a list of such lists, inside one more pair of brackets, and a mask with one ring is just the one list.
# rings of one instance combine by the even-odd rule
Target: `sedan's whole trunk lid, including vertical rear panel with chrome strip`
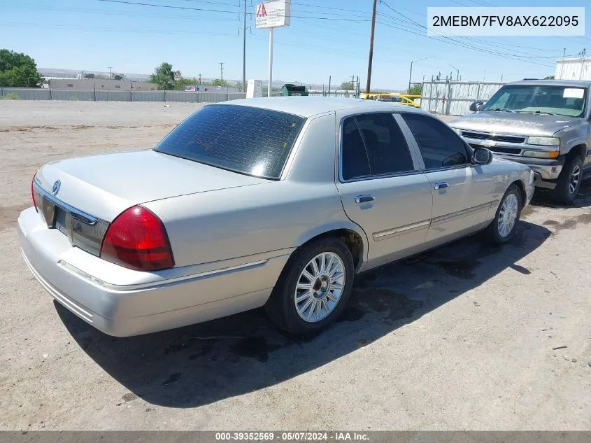
[[34,196],[49,228],[73,246],[100,255],[110,223],[131,206],[265,182],[148,150],[46,164],[34,178]]

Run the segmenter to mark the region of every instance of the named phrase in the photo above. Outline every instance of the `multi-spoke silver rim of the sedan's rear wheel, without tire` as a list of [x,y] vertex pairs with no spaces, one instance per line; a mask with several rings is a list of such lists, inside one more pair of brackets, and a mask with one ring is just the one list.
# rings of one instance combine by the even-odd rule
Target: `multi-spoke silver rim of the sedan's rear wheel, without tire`
[[345,265],[332,252],[316,255],[297,279],[294,303],[299,317],[308,323],[327,318],[341,300],[345,287]]

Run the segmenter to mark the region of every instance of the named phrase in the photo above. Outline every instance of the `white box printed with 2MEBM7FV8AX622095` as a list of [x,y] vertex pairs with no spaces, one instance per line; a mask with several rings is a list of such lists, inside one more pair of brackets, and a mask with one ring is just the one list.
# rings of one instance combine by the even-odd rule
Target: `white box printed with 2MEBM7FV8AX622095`
[[585,8],[427,8],[429,36],[584,36]]

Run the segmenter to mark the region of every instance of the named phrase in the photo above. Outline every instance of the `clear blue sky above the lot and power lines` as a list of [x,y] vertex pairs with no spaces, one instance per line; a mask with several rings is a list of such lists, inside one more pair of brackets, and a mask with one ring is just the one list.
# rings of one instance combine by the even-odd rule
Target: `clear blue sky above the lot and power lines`
[[[183,76],[242,78],[243,0],[0,0],[0,48],[31,55],[38,67],[151,73],[169,62]],[[131,4],[134,3],[134,4]],[[137,4],[143,3],[143,4]],[[164,5],[167,7],[149,6]],[[247,0],[247,78],[267,78],[269,31],[255,29]],[[429,38],[427,6],[590,6],[550,0],[378,1],[372,87],[403,89],[455,68],[462,80],[540,78],[555,57],[591,53],[585,36]],[[371,0],[292,0],[292,24],[275,30],[273,79],[340,85],[367,76]],[[590,10],[591,8],[588,8]],[[588,17],[589,18],[589,17]],[[252,34],[251,34],[252,31]]]

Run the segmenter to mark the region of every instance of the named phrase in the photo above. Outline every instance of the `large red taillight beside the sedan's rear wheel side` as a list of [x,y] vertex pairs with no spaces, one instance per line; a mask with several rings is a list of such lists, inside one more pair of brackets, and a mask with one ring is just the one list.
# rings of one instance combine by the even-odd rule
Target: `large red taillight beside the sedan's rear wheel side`
[[174,266],[164,225],[142,206],[129,208],[113,220],[103,240],[101,258],[131,269]]

